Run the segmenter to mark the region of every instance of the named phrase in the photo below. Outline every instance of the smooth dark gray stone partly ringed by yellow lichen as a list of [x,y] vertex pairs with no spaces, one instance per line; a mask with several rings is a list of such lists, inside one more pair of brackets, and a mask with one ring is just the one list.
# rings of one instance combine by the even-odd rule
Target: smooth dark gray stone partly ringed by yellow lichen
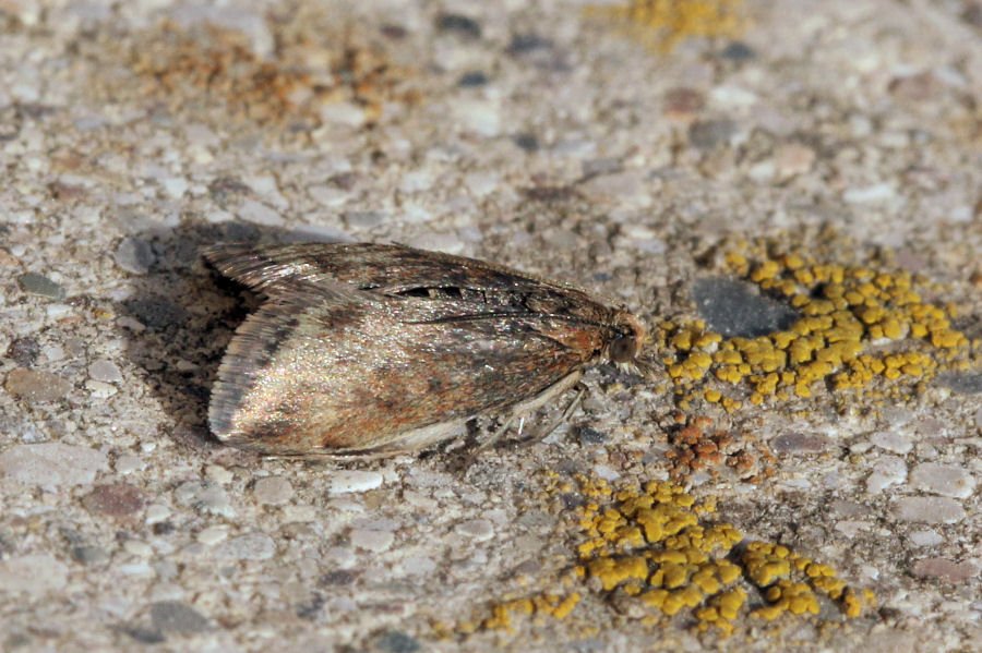
[[782,302],[763,297],[742,281],[698,279],[692,299],[699,316],[712,331],[724,338],[756,338],[782,331],[801,314]]

